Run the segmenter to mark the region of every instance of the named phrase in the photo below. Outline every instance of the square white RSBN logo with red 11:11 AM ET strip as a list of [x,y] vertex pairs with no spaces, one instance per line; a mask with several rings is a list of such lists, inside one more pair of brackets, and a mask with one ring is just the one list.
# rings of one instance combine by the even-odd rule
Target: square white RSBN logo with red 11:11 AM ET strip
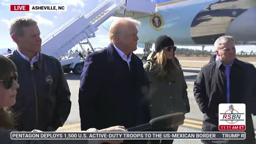
[[246,106],[244,103],[219,104],[219,130],[245,131]]

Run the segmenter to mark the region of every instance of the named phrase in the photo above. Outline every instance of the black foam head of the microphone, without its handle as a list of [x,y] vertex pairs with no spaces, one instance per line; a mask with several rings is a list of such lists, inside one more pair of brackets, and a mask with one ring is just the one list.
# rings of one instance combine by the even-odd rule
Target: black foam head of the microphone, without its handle
[[183,113],[174,113],[156,117],[150,120],[153,129],[171,129],[173,126],[183,124],[185,115]]

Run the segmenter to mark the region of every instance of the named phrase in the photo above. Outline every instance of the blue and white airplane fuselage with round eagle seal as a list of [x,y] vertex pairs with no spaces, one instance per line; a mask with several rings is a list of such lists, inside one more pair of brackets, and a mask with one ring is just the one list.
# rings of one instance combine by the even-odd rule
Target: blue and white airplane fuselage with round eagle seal
[[[156,0],[154,15],[135,19],[141,22],[138,47],[146,51],[159,35],[202,50],[222,35],[233,36],[237,44],[256,44],[256,0]],[[108,31],[111,22],[101,26]]]

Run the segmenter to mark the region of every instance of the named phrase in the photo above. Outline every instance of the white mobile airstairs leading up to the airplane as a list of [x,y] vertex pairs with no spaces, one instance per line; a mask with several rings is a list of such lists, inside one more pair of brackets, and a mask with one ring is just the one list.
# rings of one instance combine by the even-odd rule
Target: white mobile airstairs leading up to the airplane
[[[147,7],[142,8],[145,5]],[[98,27],[113,15],[136,18],[154,13],[155,0],[105,0],[89,13],[82,14],[77,18],[70,18],[42,37],[42,53],[59,59],[61,65],[72,69],[73,73],[81,74],[83,59],[78,54],[75,53],[72,59],[60,59],[72,47],[84,39],[89,42],[89,38],[95,37]],[[79,68],[76,68],[78,65]]]

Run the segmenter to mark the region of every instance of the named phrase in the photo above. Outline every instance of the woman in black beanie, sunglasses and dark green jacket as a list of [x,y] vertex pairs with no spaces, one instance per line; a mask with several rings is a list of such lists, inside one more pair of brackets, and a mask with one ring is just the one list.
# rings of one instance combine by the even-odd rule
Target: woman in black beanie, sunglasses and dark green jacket
[[[150,53],[143,66],[149,80],[149,102],[151,118],[171,114],[189,113],[187,84],[183,71],[175,59],[173,40],[166,35],[159,36],[155,42],[155,51]],[[177,131],[158,129],[154,131]],[[172,143],[173,140],[150,140],[149,143]]]

